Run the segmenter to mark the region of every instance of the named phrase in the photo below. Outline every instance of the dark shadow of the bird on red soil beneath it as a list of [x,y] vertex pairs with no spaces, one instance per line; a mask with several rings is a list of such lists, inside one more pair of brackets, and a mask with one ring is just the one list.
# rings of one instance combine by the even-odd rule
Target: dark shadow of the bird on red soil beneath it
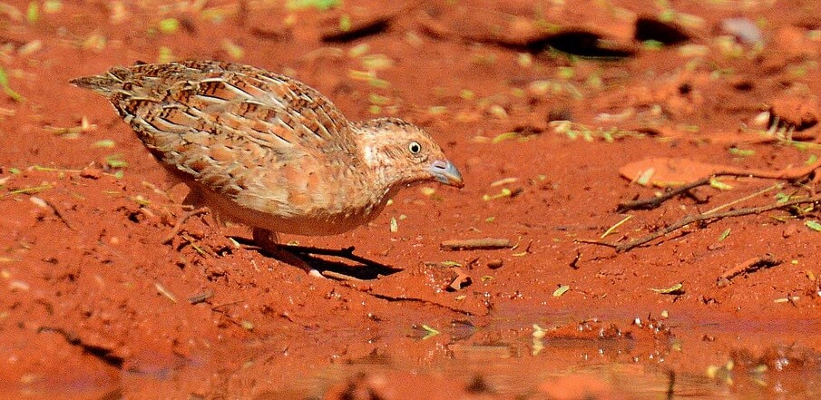
[[[276,259],[272,257],[268,251],[257,246],[252,239],[240,237],[231,237],[231,239],[236,240],[239,244],[256,248],[260,254],[266,257]],[[396,272],[403,270],[402,268],[391,267],[372,259],[357,256],[354,254],[353,246],[346,249],[322,249],[307,246],[280,245],[280,248],[297,256],[299,259],[308,263],[311,268],[317,269],[322,275],[330,278],[371,280],[396,274]],[[353,263],[335,261],[317,256],[347,259],[348,261],[353,261]]]

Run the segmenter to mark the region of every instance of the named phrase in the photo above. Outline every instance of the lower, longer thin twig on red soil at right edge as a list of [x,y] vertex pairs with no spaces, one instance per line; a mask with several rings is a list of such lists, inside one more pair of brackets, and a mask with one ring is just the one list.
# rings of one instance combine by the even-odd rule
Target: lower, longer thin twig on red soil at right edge
[[639,239],[633,239],[633,240],[630,240],[626,243],[621,243],[621,244],[618,244],[618,245],[613,244],[613,243],[601,242],[601,241],[597,241],[597,240],[579,239],[579,240],[576,240],[576,241],[580,242],[580,243],[588,243],[588,244],[595,244],[595,245],[600,245],[600,246],[607,246],[607,247],[616,249],[617,252],[623,253],[625,251],[630,251],[631,249],[635,249],[635,248],[637,248],[637,247],[639,247],[639,246],[641,246],[641,245],[643,245],[647,242],[650,242],[652,240],[659,239],[662,236],[666,236],[666,235],[668,235],[672,232],[675,232],[676,230],[679,230],[681,228],[684,228],[684,227],[686,227],[689,224],[692,224],[694,222],[708,221],[708,223],[709,223],[709,222],[714,222],[716,220],[722,220],[722,219],[725,219],[725,218],[733,218],[733,217],[741,217],[741,216],[745,216],[745,215],[760,214],[762,212],[766,212],[766,211],[769,211],[769,210],[787,209],[789,207],[796,206],[798,204],[816,203],[816,202],[821,202],[821,195],[808,197],[808,198],[805,198],[805,199],[788,200],[788,201],[785,201],[783,203],[767,204],[766,206],[760,206],[760,207],[747,207],[747,208],[744,208],[744,209],[731,210],[731,211],[726,211],[726,212],[718,212],[718,213],[717,212],[710,212],[710,213],[705,212],[705,213],[700,213],[700,214],[696,214],[696,215],[688,215],[688,216],[682,218],[681,220],[678,220],[678,221],[670,224],[665,229],[660,229],[659,231],[650,233],[649,235],[646,235],[646,236],[641,237]]

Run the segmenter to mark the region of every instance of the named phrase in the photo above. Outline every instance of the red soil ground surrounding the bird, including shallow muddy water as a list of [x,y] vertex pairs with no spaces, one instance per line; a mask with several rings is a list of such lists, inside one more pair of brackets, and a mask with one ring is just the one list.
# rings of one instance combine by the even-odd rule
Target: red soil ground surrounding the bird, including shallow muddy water
[[[817,394],[821,5],[662,3],[0,6],[0,396]],[[165,244],[186,189],[68,81],[190,58],[286,73],[352,120],[415,122],[466,186],[410,188],[365,227],[285,238],[391,267],[314,260],[351,279],[308,277],[207,215]],[[664,192],[620,174],[660,158],[678,162],[670,176],[658,160],[635,173],[790,173],[617,210]],[[626,251],[589,243],[790,200]],[[514,248],[440,248],[483,238]]]

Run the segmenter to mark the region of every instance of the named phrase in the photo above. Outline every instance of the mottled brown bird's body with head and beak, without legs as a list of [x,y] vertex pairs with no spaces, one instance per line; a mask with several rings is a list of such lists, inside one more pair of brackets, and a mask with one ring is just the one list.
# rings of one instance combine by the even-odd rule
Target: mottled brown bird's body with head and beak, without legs
[[191,202],[255,228],[255,237],[342,233],[373,220],[408,184],[463,185],[415,125],[348,122],[308,85],[248,65],[142,64],[72,83],[107,97],[191,187]]

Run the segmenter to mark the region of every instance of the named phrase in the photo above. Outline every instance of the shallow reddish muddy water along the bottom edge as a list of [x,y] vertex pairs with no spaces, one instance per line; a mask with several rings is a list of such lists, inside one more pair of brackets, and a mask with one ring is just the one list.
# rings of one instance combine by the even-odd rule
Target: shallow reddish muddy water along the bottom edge
[[[325,341],[304,348],[288,344],[288,333],[249,342],[242,354],[215,349],[210,356],[175,356],[167,363],[162,357],[132,357],[118,387],[85,387],[73,395],[821,398],[821,356],[813,346],[800,340],[791,346],[770,345],[787,343],[798,326],[805,328],[800,332],[806,340],[816,340],[808,334],[821,332],[814,321],[529,319],[536,322],[523,323],[520,316],[484,321],[484,326],[454,320],[447,327],[385,327],[369,337],[348,329],[324,331]],[[722,337],[730,337],[731,345]],[[73,390],[54,386],[26,394],[47,397]]]

